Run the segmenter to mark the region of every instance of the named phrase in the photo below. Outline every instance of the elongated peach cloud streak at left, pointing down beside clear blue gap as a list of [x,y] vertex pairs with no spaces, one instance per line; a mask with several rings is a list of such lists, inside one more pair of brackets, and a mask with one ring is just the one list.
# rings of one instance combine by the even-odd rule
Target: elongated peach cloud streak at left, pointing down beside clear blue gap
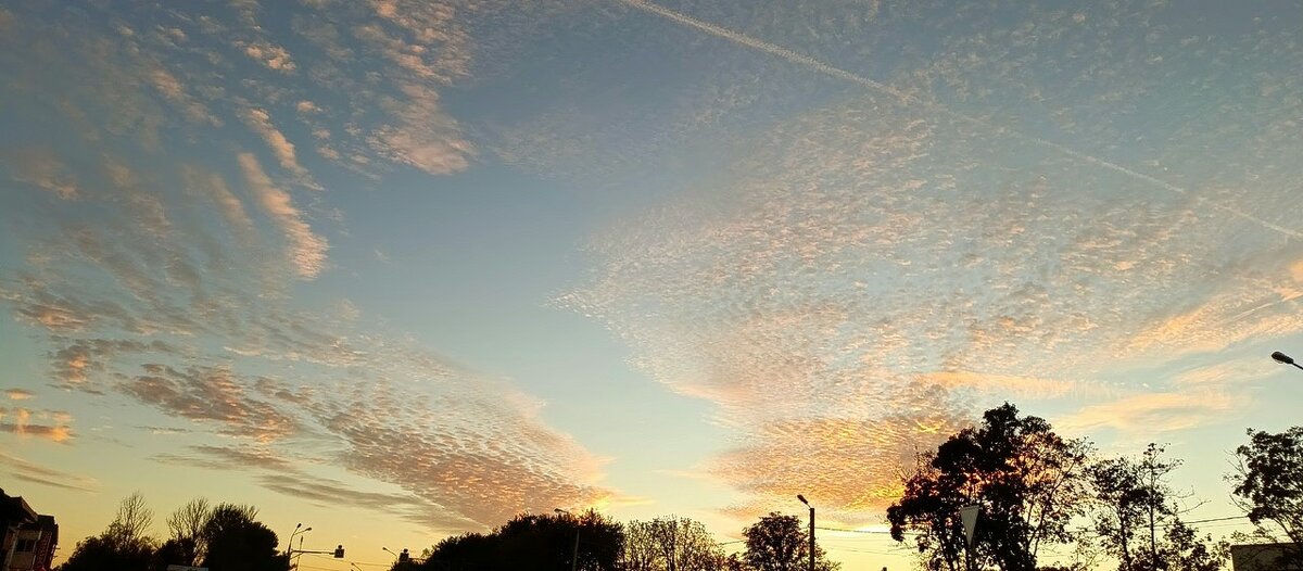
[[326,250],[330,245],[326,239],[313,232],[311,227],[304,222],[302,214],[294,207],[289,193],[276,188],[262,166],[249,153],[238,156],[240,168],[244,171],[249,190],[253,192],[262,206],[280,231],[289,241],[289,259],[297,269],[297,274],[304,279],[313,279],[326,269]]

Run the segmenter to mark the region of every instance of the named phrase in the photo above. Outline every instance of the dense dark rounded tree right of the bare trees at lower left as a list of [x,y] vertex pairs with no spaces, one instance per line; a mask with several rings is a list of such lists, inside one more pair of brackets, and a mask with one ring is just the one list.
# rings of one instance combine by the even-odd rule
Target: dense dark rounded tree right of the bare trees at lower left
[[199,533],[211,571],[285,571],[289,558],[276,550],[276,533],[258,523],[251,506],[223,503],[212,508]]

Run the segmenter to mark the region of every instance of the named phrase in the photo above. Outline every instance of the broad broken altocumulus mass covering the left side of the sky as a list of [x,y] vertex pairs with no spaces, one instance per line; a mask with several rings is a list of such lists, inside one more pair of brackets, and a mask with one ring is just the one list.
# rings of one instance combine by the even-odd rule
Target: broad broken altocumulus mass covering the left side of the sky
[[[431,527],[611,498],[602,460],[546,426],[528,395],[377,332],[352,304],[314,310],[293,296],[331,271],[332,235],[345,235],[321,215],[319,197],[336,189],[315,192],[323,163],[305,149],[369,176],[466,168],[476,147],[440,90],[470,72],[463,17],[507,5],[294,5],[276,22],[257,3],[228,8],[0,10],[12,78],[0,95],[22,102],[0,113],[72,133],[0,153],[0,205],[7,224],[22,212],[26,253],[0,275],[0,300],[43,339],[50,385],[151,407],[184,424],[168,438],[227,443],[159,461],[244,471],[309,501],[397,505]],[[248,132],[211,143],[219,128]],[[73,435],[56,412],[3,415],[4,432]],[[280,460],[302,442],[315,463],[400,491],[353,490]],[[9,463],[27,480],[94,488]]]

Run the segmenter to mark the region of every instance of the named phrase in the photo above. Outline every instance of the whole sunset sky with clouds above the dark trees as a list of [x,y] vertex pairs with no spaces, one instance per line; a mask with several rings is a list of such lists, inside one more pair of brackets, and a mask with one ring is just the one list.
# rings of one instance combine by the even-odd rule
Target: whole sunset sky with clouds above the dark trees
[[0,485],[61,557],[137,490],[159,534],[198,495],[311,527],[322,570],[558,507],[872,532],[1012,402],[1237,515],[1230,451],[1303,403],[1298,22],[4,3]]

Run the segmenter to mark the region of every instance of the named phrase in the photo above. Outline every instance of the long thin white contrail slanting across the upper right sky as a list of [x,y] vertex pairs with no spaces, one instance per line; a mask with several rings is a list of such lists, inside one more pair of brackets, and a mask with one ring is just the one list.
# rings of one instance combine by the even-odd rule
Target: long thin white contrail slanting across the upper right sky
[[1101,159],[1098,156],[1088,155],[1085,153],[1081,153],[1081,151],[1066,147],[1066,146],[1059,145],[1059,143],[1053,142],[1053,141],[1048,141],[1048,139],[1044,139],[1044,138],[1040,138],[1040,137],[1033,137],[1033,136],[1029,136],[1029,134],[1019,133],[1016,130],[1010,130],[1010,129],[1003,128],[1003,126],[993,125],[992,123],[989,123],[989,121],[986,121],[984,119],[975,117],[975,116],[966,115],[966,113],[960,113],[958,111],[950,110],[950,108],[947,108],[945,106],[941,106],[941,104],[924,102],[924,100],[921,100],[921,99],[919,99],[916,96],[912,96],[912,95],[909,95],[909,94],[907,94],[904,91],[894,89],[894,87],[891,87],[891,86],[889,86],[886,83],[877,82],[877,81],[869,80],[869,78],[863,77],[863,76],[857,76],[855,73],[847,72],[847,70],[840,69],[840,68],[835,68],[835,66],[829,65],[829,64],[826,64],[823,61],[816,60],[816,59],[813,59],[810,56],[807,56],[804,53],[794,52],[794,51],[791,51],[788,48],[784,48],[782,46],[773,44],[773,43],[769,43],[769,42],[761,40],[761,39],[756,39],[756,38],[752,38],[749,35],[741,34],[739,31],[734,31],[734,30],[730,30],[727,27],[721,27],[721,26],[717,26],[714,23],[693,18],[693,17],[691,17],[688,14],[681,13],[681,12],[672,10],[670,8],[665,8],[665,7],[661,7],[661,5],[657,5],[657,4],[652,4],[652,3],[648,3],[648,1],[644,1],[644,0],[615,0],[615,1],[619,1],[620,4],[625,4],[625,5],[632,7],[632,8],[637,8],[637,9],[642,10],[642,12],[646,12],[646,13],[655,14],[655,16],[659,16],[662,18],[666,18],[666,20],[681,23],[684,26],[705,31],[706,34],[714,35],[717,38],[723,38],[723,39],[726,39],[728,42],[732,42],[735,44],[739,44],[739,46],[743,46],[743,47],[749,47],[752,50],[758,50],[758,51],[762,51],[765,53],[782,57],[782,59],[784,59],[787,61],[791,61],[791,63],[794,63],[796,65],[803,65],[805,68],[809,68],[809,69],[813,69],[816,72],[820,72],[820,73],[822,73],[825,76],[835,77],[838,80],[848,81],[851,83],[856,83],[856,85],[868,87],[870,90],[874,90],[874,91],[890,95],[890,96],[895,98],[896,100],[899,100],[900,103],[906,103],[906,104],[920,104],[920,103],[921,104],[926,104],[928,107],[934,108],[936,111],[942,112],[945,115],[949,115],[951,117],[955,117],[955,119],[959,119],[959,120],[963,120],[963,121],[967,121],[967,123],[973,123],[973,124],[977,124],[977,125],[982,125],[982,126],[986,126],[986,128],[990,128],[990,129],[995,129],[997,132],[999,132],[1002,134],[1007,134],[1007,136],[1010,136],[1012,138],[1016,138],[1016,139],[1020,139],[1020,141],[1031,142],[1031,143],[1035,143],[1035,145],[1038,145],[1038,146],[1042,146],[1042,147],[1046,147],[1046,149],[1055,150],[1055,151],[1062,153],[1065,155],[1068,155],[1068,156],[1071,156],[1074,159],[1078,159],[1078,160],[1080,160],[1083,163],[1089,163],[1089,164],[1095,164],[1097,167],[1108,168],[1108,169],[1110,169],[1113,172],[1118,172],[1121,175],[1130,176],[1130,177],[1132,177],[1135,180],[1139,180],[1141,183],[1148,183],[1149,185],[1158,186],[1158,188],[1161,188],[1164,190],[1191,197],[1191,198],[1194,198],[1196,202],[1199,202],[1203,206],[1207,206],[1209,209],[1220,210],[1222,212],[1226,212],[1226,214],[1242,218],[1244,220],[1248,220],[1248,222],[1252,222],[1255,224],[1259,224],[1259,226],[1261,226],[1264,228],[1280,232],[1280,233],[1282,233],[1285,236],[1290,236],[1290,237],[1294,237],[1294,239],[1303,239],[1303,232],[1298,232],[1298,231],[1286,228],[1286,227],[1280,226],[1280,224],[1273,224],[1270,222],[1263,220],[1261,218],[1253,216],[1252,214],[1248,214],[1248,212],[1246,212],[1243,210],[1233,209],[1230,206],[1218,205],[1218,203],[1212,202],[1212,201],[1209,201],[1209,199],[1207,199],[1204,197],[1200,197],[1200,196],[1196,196],[1196,194],[1190,194],[1188,190],[1186,190],[1186,189],[1183,189],[1181,186],[1177,186],[1177,185],[1174,185],[1171,183],[1156,179],[1156,177],[1145,175],[1143,172],[1132,171],[1132,169],[1130,169],[1127,167],[1123,167],[1121,164],[1117,164],[1117,163]]

